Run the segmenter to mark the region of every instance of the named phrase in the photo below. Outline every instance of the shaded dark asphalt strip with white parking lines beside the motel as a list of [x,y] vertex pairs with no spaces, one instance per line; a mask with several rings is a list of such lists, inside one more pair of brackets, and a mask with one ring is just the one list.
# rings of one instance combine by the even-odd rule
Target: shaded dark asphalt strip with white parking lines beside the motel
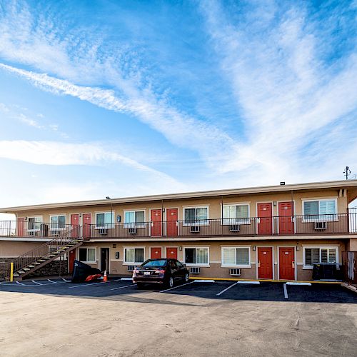
[[146,286],[138,289],[127,278],[111,279],[104,283],[71,283],[65,278],[33,279],[19,282],[2,282],[0,291],[22,293],[44,293],[49,295],[81,296],[106,298],[128,293],[145,296],[148,293],[161,293],[166,296],[194,296],[233,301],[301,301],[326,303],[357,303],[356,293],[339,284],[296,284],[258,281],[190,281],[175,286]]

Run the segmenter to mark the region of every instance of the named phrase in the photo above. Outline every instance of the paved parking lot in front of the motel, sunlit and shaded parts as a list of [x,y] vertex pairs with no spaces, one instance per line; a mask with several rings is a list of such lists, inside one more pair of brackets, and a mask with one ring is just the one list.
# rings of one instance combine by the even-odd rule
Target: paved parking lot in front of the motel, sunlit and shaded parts
[[0,284],[0,356],[354,356],[357,295],[339,285],[130,280]]

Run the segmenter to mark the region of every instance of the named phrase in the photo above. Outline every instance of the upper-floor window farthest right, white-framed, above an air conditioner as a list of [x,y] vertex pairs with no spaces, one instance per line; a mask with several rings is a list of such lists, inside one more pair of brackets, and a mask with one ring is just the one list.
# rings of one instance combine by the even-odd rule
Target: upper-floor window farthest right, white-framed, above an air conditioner
[[304,221],[334,221],[337,219],[336,199],[303,201]]

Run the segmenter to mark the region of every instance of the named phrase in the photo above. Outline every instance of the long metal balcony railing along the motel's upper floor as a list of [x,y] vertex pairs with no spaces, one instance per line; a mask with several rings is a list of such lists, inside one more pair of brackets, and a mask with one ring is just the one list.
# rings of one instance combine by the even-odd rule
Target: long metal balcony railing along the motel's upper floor
[[84,239],[357,234],[357,210],[310,216],[106,223],[100,226],[54,226],[39,223],[34,228],[24,221],[0,221],[0,236],[54,238],[68,231],[71,231],[73,238]]

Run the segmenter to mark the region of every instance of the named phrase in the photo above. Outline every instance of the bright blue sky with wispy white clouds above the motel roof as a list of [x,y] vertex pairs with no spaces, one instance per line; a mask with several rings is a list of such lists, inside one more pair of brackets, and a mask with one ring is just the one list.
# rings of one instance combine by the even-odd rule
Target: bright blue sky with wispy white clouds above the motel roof
[[356,13],[0,0],[0,206],[356,173]]

